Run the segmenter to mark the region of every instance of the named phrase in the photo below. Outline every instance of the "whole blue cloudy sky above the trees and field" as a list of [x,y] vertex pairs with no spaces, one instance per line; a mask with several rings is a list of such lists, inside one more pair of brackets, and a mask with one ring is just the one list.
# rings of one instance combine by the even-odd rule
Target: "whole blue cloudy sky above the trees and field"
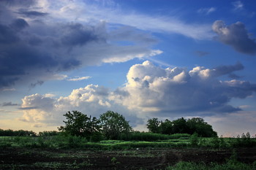
[[256,1],[1,0],[0,128],[202,117],[256,134]]

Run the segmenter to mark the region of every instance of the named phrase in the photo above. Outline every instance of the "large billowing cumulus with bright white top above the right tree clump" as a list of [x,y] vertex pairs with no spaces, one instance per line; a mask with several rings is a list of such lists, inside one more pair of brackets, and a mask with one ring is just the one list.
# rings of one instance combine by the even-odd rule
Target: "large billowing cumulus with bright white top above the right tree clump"
[[197,66],[190,71],[181,68],[162,69],[145,61],[129,69],[127,84],[121,90],[129,96],[113,94],[114,100],[129,109],[162,114],[192,112],[236,112],[231,98],[246,98],[256,85],[240,80],[218,80],[218,77],[243,69],[241,63],[206,69]]

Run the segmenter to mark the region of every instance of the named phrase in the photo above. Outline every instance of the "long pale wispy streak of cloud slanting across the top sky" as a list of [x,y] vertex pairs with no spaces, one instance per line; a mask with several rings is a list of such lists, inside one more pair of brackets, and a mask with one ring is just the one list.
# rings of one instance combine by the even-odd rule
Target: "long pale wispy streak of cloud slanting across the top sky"
[[[181,34],[192,39],[211,39],[211,26],[203,24],[185,23],[175,15],[146,15],[135,11],[122,12],[118,5],[102,5],[99,1],[87,3],[86,1],[63,2],[59,9],[54,9],[56,18],[61,20],[105,20],[110,26],[130,26],[143,31],[165,32],[170,34]],[[96,2],[96,3],[94,3]],[[60,5],[59,5],[60,6]],[[116,18],[118,16],[118,18]],[[60,17],[59,17],[60,18]],[[122,18],[121,20],[119,18]]]

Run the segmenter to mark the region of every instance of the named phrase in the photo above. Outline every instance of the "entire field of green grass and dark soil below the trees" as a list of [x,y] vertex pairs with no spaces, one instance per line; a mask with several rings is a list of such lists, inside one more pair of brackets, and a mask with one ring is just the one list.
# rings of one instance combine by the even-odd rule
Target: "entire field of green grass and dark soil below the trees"
[[0,169],[256,169],[255,138],[143,135],[148,141],[1,136]]

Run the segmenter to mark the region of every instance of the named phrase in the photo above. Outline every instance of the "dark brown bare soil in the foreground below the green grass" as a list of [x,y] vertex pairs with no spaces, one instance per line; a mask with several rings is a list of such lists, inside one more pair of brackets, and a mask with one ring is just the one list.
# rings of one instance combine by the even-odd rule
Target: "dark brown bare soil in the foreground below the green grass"
[[[165,169],[178,161],[224,163],[233,150],[49,150],[7,148],[0,151],[0,169]],[[256,148],[236,149],[238,161],[256,161]]]

